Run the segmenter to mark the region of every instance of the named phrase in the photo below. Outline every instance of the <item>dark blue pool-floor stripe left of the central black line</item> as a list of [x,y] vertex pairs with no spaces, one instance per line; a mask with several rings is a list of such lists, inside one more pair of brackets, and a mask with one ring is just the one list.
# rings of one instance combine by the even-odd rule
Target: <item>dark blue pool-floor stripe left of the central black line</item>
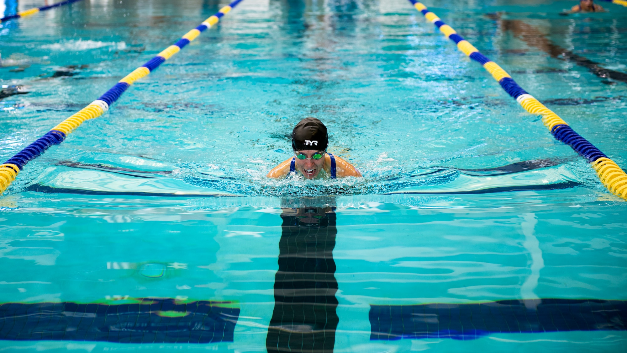
[[233,342],[239,308],[144,298],[136,304],[5,303],[0,339],[116,343]]

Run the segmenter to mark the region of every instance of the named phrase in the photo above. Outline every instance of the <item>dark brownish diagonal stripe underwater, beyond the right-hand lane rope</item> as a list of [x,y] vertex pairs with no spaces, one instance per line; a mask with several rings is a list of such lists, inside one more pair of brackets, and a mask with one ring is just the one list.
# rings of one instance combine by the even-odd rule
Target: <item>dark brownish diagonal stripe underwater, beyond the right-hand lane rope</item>
[[[566,60],[567,62],[575,63],[577,66],[585,67],[590,72],[594,73],[594,75],[601,77],[602,79],[627,82],[627,73],[601,67],[601,64],[598,62],[593,62],[586,57],[582,57],[581,55],[577,55],[566,48],[556,45],[549,38],[547,38],[545,33],[529,23],[525,23],[520,19],[502,19],[500,18],[500,14],[488,14],[488,17],[497,21],[498,26],[503,31],[511,31],[516,38],[525,41],[525,43],[529,46],[534,46],[535,48],[542,50],[542,52],[549,54],[552,58]],[[603,81],[603,83],[609,82]]]

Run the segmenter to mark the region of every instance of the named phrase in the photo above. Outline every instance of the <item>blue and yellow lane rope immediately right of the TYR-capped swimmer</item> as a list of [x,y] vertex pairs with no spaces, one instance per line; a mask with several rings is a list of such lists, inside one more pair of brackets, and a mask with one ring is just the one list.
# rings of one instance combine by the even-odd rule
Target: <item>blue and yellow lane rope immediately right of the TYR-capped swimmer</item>
[[435,13],[429,11],[424,4],[416,0],[409,0],[409,2],[412,3],[414,8],[420,11],[426,19],[440,28],[440,31],[444,33],[446,38],[454,41],[461,52],[483,65],[485,70],[487,70],[501,87],[503,87],[509,95],[514,97],[526,111],[542,116],[542,122],[549,128],[549,131],[551,131],[551,134],[553,134],[556,139],[568,144],[579,153],[579,155],[587,158],[601,182],[609,191],[619,197],[627,199],[627,175],[613,160],[608,158],[608,156],[587,141],[587,139],[577,134],[566,124],[566,121],[557,116],[555,112],[545,107],[539,100],[522,89],[503,68],[480,53],[477,48],[458,35],[451,26],[445,24]]

